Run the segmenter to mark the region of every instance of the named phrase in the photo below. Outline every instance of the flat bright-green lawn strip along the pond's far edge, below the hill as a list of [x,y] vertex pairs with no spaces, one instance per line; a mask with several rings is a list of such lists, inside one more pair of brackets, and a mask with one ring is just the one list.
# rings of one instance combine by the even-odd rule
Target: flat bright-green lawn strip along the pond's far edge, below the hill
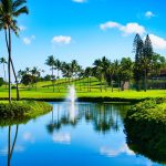
[[[61,90],[61,92],[52,92],[52,90],[48,89],[38,89],[35,91],[21,89],[20,90],[20,97],[21,100],[40,100],[40,101],[63,101],[68,95],[66,90]],[[15,98],[15,91],[12,90],[12,97]],[[114,92],[111,91],[76,91],[76,96],[80,101],[84,102],[98,102],[98,101],[110,101],[110,102],[125,102],[125,101],[143,101],[145,98],[156,98],[156,97],[166,97],[166,92],[163,90],[149,90],[147,92],[136,92],[132,90],[126,90],[123,92],[118,92],[115,90]],[[8,90],[2,90],[0,92],[0,100],[8,98]]]

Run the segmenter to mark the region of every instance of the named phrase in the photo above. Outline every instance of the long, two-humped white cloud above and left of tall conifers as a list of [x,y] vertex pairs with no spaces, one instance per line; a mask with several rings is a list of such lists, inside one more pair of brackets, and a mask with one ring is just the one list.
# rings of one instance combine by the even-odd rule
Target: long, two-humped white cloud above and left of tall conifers
[[126,25],[123,25],[118,22],[108,21],[108,22],[101,24],[100,28],[102,30],[116,28],[120,31],[122,31],[125,35],[133,34],[133,33],[144,34],[146,32],[143,25],[139,25],[138,23],[135,23],[135,22],[129,22]]

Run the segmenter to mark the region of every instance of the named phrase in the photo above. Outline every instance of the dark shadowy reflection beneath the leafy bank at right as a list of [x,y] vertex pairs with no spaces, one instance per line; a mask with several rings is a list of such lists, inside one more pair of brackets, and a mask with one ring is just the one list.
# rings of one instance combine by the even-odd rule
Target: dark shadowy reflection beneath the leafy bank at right
[[166,164],[166,125],[155,121],[125,120],[128,147],[153,162]]

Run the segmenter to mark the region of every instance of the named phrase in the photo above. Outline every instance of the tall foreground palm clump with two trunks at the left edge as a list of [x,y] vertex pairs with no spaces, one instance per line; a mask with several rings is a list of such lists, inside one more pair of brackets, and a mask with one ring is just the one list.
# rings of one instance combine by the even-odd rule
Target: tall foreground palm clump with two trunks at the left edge
[[[15,34],[18,34],[18,25],[17,25],[17,18],[23,13],[29,13],[28,8],[24,6],[27,3],[27,0],[1,0],[0,1],[0,29],[4,30],[6,34],[6,44],[8,50],[8,76],[9,76],[9,103],[11,103],[11,66],[14,73],[14,66],[11,58],[11,32],[13,31]],[[17,98],[19,97],[19,91],[18,91],[18,81],[17,82]],[[19,100],[19,98],[18,98]]]

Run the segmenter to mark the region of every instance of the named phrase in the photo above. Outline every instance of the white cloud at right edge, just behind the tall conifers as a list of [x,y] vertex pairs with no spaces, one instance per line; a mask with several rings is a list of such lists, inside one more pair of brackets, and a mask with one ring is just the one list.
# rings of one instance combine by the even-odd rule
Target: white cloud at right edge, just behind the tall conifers
[[149,39],[155,49],[165,50],[166,49],[166,40],[157,37],[155,34],[149,34]]

